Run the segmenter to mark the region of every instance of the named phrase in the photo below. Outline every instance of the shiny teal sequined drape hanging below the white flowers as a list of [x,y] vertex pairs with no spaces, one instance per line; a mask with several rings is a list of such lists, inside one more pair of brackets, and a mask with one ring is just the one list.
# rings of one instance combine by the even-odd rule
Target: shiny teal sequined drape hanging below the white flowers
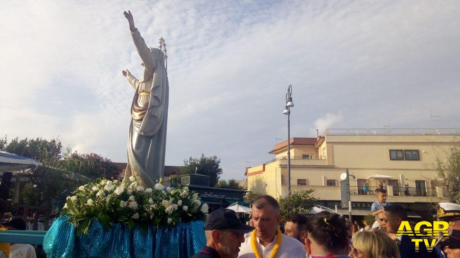
[[206,244],[204,222],[178,223],[157,229],[149,226],[144,233],[140,227],[129,230],[128,225],[114,223],[109,230],[94,220],[88,235],[76,236],[74,225],[67,216],[57,218],[43,239],[47,257],[191,257]]

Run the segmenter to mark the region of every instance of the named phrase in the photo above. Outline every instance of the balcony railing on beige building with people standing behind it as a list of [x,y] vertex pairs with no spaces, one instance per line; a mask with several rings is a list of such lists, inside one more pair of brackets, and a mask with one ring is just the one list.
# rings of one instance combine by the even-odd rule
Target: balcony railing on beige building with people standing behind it
[[[350,186],[350,194],[374,195],[378,188],[380,187],[367,187],[367,191],[364,191],[362,186]],[[393,196],[438,197],[438,193],[435,188],[393,187]]]

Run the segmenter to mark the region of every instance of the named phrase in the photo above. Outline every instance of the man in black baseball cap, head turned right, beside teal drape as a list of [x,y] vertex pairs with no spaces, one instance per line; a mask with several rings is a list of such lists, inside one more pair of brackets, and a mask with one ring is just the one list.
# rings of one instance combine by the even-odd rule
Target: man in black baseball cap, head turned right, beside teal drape
[[243,224],[235,212],[218,209],[208,215],[204,225],[206,245],[193,258],[236,258],[244,242],[244,234],[254,227]]

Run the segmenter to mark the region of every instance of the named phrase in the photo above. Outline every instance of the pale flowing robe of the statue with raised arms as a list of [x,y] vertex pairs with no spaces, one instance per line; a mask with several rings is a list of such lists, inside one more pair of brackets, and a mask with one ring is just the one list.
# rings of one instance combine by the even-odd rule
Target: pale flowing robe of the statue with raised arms
[[145,70],[141,80],[131,74],[126,76],[136,92],[131,105],[128,165],[123,181],[129,182],[133,175],[145,187],[153,188],[165,168],[169,95],[165,54],[158,48],[147,47],[139,31],[131,36]]

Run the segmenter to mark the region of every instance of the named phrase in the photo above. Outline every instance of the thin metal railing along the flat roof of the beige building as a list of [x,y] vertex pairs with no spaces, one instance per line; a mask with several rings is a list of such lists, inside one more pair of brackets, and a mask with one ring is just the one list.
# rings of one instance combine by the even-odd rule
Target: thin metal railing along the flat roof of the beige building
[[460,135],[460,128],[331,128],[327,135]]

